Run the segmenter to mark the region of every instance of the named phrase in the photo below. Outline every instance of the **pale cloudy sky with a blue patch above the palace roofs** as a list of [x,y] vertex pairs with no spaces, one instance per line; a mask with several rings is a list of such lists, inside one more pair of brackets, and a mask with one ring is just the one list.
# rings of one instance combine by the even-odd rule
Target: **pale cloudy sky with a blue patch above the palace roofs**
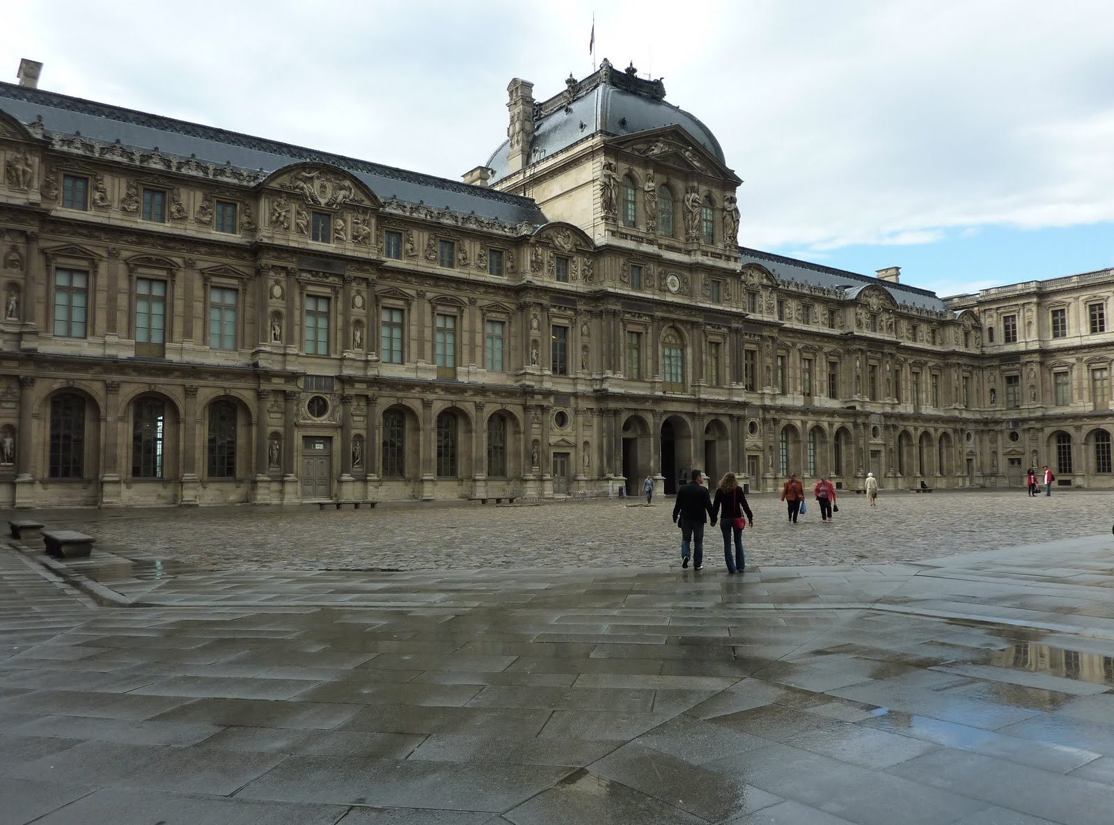
[[[96,9],[96,11],[94,11]],[[744,245],[940,294],[1114,266],[1114,3],[11,3],[0,77],[459,178],[596,58],[719,137]]]

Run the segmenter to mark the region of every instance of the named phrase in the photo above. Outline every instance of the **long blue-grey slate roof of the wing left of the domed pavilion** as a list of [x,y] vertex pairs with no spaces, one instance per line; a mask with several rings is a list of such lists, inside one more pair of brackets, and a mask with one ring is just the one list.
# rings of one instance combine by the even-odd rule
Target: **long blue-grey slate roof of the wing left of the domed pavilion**
[[475,212],[506,223],[547,223],[531,198],[43,89],[0,82],[0,110],[23,124],[41,117],[47,134],[80,132],[88,140],[104,144],[119,140],[134,149],[158,147],[164,155],[183,158],[196,155],[202,163],[223,166],[228,161],[252,171],[262,168],[272,173],[300,161],[332,164],[352,173],[382,200],[393,196],[411,204],[423,202],[438,209]]

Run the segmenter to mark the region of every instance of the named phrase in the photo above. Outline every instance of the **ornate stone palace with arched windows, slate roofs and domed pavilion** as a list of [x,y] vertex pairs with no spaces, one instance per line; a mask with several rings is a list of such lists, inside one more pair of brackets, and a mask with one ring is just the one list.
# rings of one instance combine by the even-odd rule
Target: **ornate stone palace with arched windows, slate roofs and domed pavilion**
[[741,247],[720,143],[633,67],[512,80],[463,183],[40,68],[0,84],[2,505],[1114,487],[1114,272],[944,299]]

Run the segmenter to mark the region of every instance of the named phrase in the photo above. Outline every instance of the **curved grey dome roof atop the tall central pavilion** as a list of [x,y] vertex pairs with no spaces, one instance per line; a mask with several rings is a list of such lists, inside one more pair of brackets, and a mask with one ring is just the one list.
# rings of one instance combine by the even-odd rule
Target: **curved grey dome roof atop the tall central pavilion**
[[[661,80],[637,77],[633,67],[616,71],[604,60],[599,70],[569,89],[536,106],[535,131],[530,141],[530,163],[541,160],[596,132],[612,136],[634,135],[663,126],[680,126],[694,140],[724,164],[723,149],[715,135],[684,109],[664,100]],[[571,97],[571,100],[569,98]],[[507,176],[507,149],[504,140],[487,161],[495,170],[492,180]]]

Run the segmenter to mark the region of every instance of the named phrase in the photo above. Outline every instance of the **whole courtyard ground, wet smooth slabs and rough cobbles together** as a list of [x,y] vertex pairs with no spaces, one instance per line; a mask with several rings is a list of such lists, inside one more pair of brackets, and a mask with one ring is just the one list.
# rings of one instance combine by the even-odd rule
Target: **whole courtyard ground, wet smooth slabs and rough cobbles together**
[[0,825],[1108,825],[1111,500],[40,513]]

